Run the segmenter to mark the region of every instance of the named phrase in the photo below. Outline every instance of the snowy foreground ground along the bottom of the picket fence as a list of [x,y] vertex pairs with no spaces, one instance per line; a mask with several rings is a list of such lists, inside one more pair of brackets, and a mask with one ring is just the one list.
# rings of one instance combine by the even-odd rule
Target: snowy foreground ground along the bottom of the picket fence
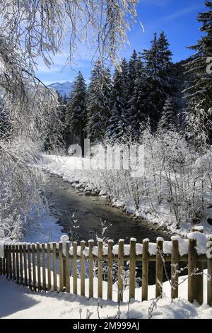
[[[182,279],[182,278],[180,278]],[[80,281],[78,281],[79,283]],[[206,277],[205,281],[206,282]],[[86,283],[88,281],[86,280]],[[206,286],[206,283],[204,283]],[[71,286],[73,284],[71,283]],[[94,295],[97,295],[98,283],[94,283]],[[88,288],[86,288],[88,290]],[[163,319],[197,319],[212,318],[212,307],[191,304],[185,300],[187,295],[187,281],[179,286],[179,298],[171,303],[170,284],[163,283],[164,298],[159,300],[157,308],[153,309],[153,318]],[[206,301],[206,288],[204,290]],[[107,284],[103,283],[103,293],[107,293]],[[115,291],[114,291],[115,293]],[[148,309],[153,304],[153,300],[139,302],[141,299],[141,288],[136,289],[136,299],[130,303],[128,313],[128,293],[124,291],[124,302],[121,303],[121,318],[148,318]],[[155,286],[149,287],[149,298],[154,298]],[[90,318],[98,318],[98,299],[66,293],[33,293],[29,288],[18,286],[16,283],[6,281],[6,278],[0,277],[0,318],[58,318],[58,319],[78,319],[81,317],[86,319],[87,309],[93,312]],[[104,296],[103,295],[103,296]],[[184,295],[184,298],[182,296]],[[117,302],[100,300],[99,312],[100,318],[115,317],[117,315]]]

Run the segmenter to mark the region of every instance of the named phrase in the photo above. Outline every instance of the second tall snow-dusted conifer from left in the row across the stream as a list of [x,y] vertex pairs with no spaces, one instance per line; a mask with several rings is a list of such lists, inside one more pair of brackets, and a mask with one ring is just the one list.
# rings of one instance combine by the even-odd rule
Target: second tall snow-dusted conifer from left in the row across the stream
[[110,69],[100,60],[95,62],[88,86],[86,130],[93,141],[102,140],[109,125],[112,108],[112,80]]

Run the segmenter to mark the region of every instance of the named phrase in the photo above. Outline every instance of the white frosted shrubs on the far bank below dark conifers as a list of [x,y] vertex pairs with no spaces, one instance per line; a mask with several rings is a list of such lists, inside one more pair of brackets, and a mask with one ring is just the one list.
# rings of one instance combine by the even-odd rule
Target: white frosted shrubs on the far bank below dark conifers
[[[129,146],[133,143],[129,140]],[[184,223],[189,227],[207,220],[212,190],[211,150],[207,149],[206,154],[201,155],[175,130],[160,130],[153,135],[147,128],[141,144],[144,145],[144,171],[141,174],[133,174],[131,168],[115,168],[114,162],[118,157],[114,154],[110,168],[98,169],[96,159],[94,162],[91,159],[90,169],[73,169],[71,176],[93,190],[101,190],[100,194],[109,197],[114,206],[125,205],[126,210],[137,212],[143,218],[151,215],[151,218],[161,220],[163,225],[172,224],[172,230]],[[116,145],[120,145],[121,161],[126,166],[127,154],[124,152],[129,146],[116,142],[112,147],[115,149]],[[105,155],[101,157],[99,160],[104,161]],[[142,161],[136,154],[134,159],[133,166],[142,169]],[[69,159],[64,166],[67,179],[72,161]],[[86,165],[86,159],[81,163]]]

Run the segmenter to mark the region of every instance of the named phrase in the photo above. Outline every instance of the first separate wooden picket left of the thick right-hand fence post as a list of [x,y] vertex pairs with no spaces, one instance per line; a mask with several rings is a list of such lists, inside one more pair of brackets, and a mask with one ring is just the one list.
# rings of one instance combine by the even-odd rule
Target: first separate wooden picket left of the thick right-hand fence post
[[172,239],[171,298],[178,298],[179,242]]

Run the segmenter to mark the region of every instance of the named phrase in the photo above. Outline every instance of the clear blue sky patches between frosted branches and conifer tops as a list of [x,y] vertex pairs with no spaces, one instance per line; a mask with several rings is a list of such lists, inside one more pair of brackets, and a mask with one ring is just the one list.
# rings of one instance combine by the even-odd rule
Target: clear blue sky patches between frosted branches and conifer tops
[[[195,44],[201,35],[196,16],[199,12],[206,10],[204,0],[140,0],[137,10],[145,31],[143,32],[140,23],[136,23],[128,33],[130,45],[126,45],[120,51],[122,57],[129,59],[134,49],[141,52],[143,48],[148,48],[153,39],[153,33],[160,33],[161,30],[165,31],[170,41],[174,62],[183,60],[192,54],[187,46]],[[76,72],[81,70],[88,81],[92,66],[90,50],[86,46],[82,46],[75,57],[73,69],[69,66],[64,68],[66,60],[64,50],[64,53],[53,58],[54,65],[51,69],[39,62],[36,74],[42,81],[49,84],[56,81],[73,81]]]

